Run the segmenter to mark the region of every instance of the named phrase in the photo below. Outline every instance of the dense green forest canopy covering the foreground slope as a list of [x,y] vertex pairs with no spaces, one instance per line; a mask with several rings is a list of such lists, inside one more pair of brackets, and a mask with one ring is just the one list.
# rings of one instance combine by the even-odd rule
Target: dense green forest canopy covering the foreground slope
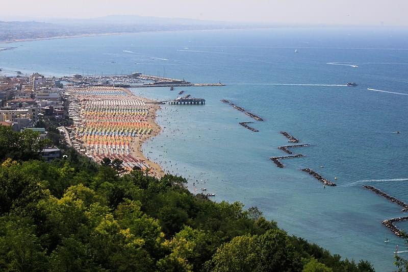
[[0,126],[2,271],[374,271],[289,236],[256,207],[193,195],[182,177],[123,173]]

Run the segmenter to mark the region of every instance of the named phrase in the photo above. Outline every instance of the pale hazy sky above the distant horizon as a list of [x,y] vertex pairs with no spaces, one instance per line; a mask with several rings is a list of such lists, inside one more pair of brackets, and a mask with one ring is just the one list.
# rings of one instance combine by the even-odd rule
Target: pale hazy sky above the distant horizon
[[408,26],[408,0],[1,0],[0,19],[113,14],[277,23]]

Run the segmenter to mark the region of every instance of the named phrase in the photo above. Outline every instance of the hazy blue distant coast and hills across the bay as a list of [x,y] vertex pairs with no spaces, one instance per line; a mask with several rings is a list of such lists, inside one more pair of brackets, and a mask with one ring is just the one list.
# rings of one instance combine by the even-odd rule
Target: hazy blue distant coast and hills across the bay
[[226,22],[133,15],[112,15],[95,19],[44,19],[44,21],[0,21],[0,41],[125,32],[240,29],[249,27]]

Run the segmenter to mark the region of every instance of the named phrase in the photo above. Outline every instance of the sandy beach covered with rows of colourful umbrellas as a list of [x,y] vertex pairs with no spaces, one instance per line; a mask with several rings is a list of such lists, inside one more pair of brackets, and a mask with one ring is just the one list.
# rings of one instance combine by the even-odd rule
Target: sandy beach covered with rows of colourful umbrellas
[[96,162],[119,159],[126,170],[137,166],[149,168],[152,176],[163,176],[161,167],[141,152],[143,142],[161,131],[155,122],[158,105],[123,88],[66,87],[65,92],[75,149]]

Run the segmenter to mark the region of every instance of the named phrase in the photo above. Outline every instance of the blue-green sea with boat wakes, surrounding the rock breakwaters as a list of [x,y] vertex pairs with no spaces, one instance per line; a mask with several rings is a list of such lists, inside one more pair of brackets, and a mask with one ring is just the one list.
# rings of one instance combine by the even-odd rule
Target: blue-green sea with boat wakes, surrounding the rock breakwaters
[[[163,132],[143,145],[193,193],[256,206],[291,235],[343,258],[392,271],[405,241],[381,224],[401,207],[365,188],[408,202],[408,30],[273,28],[174,31],[0,44],[3,73],[148,75],[222,87],[133,88],[168,101],[179,91],[203,106],[163,105]],[[297,52],[295,52],[297,51]],[[14,73],[15,75],[15,73]],[[358,86],[345,86],[355,82]],[[226,99],[261,116],[256,121]],[[239,125],[250,122],[252,132]],[[287,131],[309,147],[287,155]],[[400,133],[397,133],[400,132]],[[337,187],[302,172],[311,168]],[[408,231],[408,222],[397,227]],[[385,242],[388,239],[389,242]],[[399,253],[408,258],[408,253]]]

